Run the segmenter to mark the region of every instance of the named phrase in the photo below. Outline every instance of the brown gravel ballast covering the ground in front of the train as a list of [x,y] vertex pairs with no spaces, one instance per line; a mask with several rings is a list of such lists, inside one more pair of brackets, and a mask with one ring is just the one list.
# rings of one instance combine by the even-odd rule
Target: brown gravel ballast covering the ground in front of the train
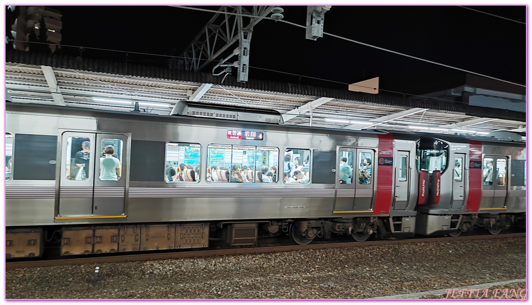
[[5,297],[365,299],[525,277],[526,238],[513,237],[9,269]]

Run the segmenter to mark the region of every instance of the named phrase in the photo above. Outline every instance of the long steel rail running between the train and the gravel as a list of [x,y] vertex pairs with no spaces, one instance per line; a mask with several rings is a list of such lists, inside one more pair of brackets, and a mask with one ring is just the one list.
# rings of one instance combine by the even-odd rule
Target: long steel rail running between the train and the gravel
[[176,258],[194,258],[194,257],[214,257],[221,255],[236,254],[258,254],[269,252],[301,251],[301,250],[318,250],[328,248],[346,248],[354,246],[371,246],[371,245],[393,245],[405,243],[429,243],[429,242],[446,242],[446,241],[471,241],[471,240],[491,240],[495,238],[525,237],[526,233],[509,233],[497,235],[471,235],[458,237],[429,237],[429,238],[411,238],[404,240],[381,240],[367,242],[335,242],[335,243],[313,243],[308,245],[281,245],[281,246],[257,246],[253,248],[231,248],[215,250],[198,250],[186,252],[165,252],[165,253],[139,253],[129,255],[114,255],[101,257],[81,257],[68,259],[53,260],[32,260],[32,261],[14,261],[6,262],[6,269],[16,268],[36,268],[63,265],[83,265],[92,263],[106,262],[132,262],[132,261],[149,261],[165,260]]

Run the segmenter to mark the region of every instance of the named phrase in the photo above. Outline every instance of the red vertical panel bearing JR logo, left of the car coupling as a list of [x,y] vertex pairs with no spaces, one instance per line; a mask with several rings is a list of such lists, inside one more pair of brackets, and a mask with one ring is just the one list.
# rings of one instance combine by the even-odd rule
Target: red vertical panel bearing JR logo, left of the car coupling
[[[379,135],[379,151],[376,158],[377,168],[377,194],[375,194],[375,208],[373,214],[383,215],[390,213],[392,205],[394,167],[389,164],[394,157],[394,136],[391,134]],[[393,163],[392,163],[393,164]]]

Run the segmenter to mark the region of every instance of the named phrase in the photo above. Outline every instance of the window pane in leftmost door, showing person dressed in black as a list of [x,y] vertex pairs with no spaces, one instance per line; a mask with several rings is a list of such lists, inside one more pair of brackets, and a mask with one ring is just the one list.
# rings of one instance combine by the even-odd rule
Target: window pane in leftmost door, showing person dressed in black
[[66,179],[87,180],[89,178],[90,144],[88,137],[66,138]]

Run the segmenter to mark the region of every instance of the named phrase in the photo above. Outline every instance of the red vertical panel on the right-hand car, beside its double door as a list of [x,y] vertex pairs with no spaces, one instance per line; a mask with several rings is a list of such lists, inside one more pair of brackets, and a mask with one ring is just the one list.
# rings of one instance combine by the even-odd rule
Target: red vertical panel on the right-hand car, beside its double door
[[469,193],[465,212],[478,212],[482,196],[482,143],[469,141]]

